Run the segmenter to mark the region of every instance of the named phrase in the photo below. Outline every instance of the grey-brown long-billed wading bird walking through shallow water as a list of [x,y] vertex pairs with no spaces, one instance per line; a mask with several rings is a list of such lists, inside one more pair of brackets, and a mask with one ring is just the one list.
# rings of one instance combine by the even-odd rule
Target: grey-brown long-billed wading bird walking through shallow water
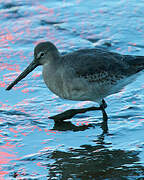
[[[88,110],[102,110],[103,119],[107,121],[104,98],[119,92],[135,80],[138,73],[144,69],[144,57],[121,55],[101,48],[81,49],[62,56],[53,43],[41,42],[34,49],[32,63],[6,90],[10,90],[39,65],[43,66],[45,84],[59,97],[99,104],[99,107],[81,111],[67,111],[61,119]],[[53,116],[55,117],[57,115]]]

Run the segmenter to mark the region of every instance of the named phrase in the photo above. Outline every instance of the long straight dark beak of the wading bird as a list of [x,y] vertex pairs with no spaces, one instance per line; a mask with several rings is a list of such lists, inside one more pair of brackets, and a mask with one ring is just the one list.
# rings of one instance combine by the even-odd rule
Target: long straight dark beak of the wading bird
[[37,66],[38,64],[33,60],[31,64],[6,88],[6,90],[10,90],[14,85],[16,85],[23,78],[25,78]]

